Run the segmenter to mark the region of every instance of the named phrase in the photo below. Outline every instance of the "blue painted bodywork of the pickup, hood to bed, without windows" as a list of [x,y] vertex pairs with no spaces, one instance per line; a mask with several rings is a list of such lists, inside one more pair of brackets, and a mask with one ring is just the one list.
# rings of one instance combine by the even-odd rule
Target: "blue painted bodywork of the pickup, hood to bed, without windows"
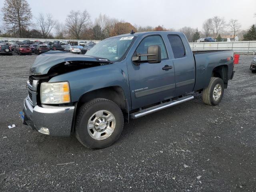
[[[168,58],[160,63],[141,63],[135,65],[132,56],[147,36],[158,35],[164,41]],[[182,39],[186,54],[182,58],[174,58],[168,35],[178,35]],[[193,54],[186,36],[180,32],[141,32],[124,34],[135,36],[134,42],[125,58],[120,62],[84,68],[52,77],[49,82],[68,81],[72,102],[77,102],[90,91],[110,86],[119,86],[128,102],[128,110],[154,104],[162,100],[201,90],[208,86],[215,67],[226,65],[228,80],[233,71],[233,51],[202,52]],[[121,37],[120,36],[120,37]],[[64,52],[47,52],[36,58],[32,65],[32,74],[47,74],[52,66],[66,61],[97,62],[96,58]],[[172,66],[170,70],[162,70],[164,66]],[[227,81],[226,81],[227,82]]]

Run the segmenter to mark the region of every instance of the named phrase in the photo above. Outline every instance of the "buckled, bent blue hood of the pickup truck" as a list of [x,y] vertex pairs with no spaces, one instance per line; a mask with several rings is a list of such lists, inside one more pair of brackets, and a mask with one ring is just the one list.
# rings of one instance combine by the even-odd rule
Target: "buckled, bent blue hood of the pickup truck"
[[110,60],[104,58],[96,58],[92,56],[76,55],[63,51],[48,51],[36,57],[34,64],[30,68],[30,75],[47,74],[53,66],[69,61],[83,61],[88,63],[111,63]]

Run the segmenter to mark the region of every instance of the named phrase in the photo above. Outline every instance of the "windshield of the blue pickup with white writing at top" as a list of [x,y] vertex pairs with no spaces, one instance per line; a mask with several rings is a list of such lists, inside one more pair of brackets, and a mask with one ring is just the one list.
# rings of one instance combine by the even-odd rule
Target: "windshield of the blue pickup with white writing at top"
[[115,37],[102,40],[86,52],[85,55],[106,58],[110,61],[116,61],[124,56],[134,36]]

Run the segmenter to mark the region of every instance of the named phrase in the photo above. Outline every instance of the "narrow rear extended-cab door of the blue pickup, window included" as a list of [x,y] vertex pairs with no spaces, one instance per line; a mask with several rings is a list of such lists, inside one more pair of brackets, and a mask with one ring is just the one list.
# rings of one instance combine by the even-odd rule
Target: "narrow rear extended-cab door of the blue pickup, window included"
[[[196,81],[194,56],[185,36],[168,35],[173,52],[176,89],[174,96],[180,96],[193,91]],[[185,42],[185,46],[184,43]]]

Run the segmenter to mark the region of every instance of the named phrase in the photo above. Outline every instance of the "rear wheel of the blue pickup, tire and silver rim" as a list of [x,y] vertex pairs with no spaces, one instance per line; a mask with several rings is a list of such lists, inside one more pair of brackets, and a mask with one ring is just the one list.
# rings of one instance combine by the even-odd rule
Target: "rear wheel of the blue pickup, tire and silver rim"
[[203,90],[203,102],[206,105],[216,106],[222,100],[224,83],[221,78],[212,77],[208,87]]

